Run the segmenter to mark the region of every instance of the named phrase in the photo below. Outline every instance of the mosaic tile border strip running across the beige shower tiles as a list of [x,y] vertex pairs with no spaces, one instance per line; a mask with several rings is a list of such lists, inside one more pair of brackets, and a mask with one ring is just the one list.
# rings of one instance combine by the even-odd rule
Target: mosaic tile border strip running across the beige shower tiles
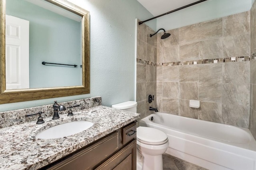
[[[256,58],[256,53],[252,55],[252,59]],[[211,63],[228,63],[228,62],[240,62],[240,61],[250,61],[249,56],[244,57],[228,57],[228,58],[216,58],[216,59],[198,59],[192,61],[177,61],[177,62],[168,62],[168,63],[153,63],[150,61],[136,59],[137,63],[142,63],[152,66],[172,66],[172,65],[193,65],[193,64],[211,64]]]

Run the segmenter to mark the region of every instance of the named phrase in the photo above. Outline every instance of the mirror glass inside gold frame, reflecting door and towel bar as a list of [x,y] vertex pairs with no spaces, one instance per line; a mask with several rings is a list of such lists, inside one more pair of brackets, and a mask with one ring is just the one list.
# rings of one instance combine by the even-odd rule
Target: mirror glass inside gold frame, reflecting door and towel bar
[[6,89],[81,86],[81,21],[44,0],[6,0]]

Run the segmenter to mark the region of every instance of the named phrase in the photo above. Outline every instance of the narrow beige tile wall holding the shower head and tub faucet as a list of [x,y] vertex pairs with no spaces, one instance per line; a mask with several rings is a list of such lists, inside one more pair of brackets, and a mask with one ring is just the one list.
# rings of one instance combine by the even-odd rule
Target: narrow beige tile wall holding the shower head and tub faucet
[[[156,56],[157,56],[157,35],[150,37],[154,31],[141,24],[137,26],[137,89],[136,101],[138,103],[137,112],[140,113],[140,119],[150,115],[154,111],[149,111],[149,107],[156,107]],[[145,64],[152,63],[152,65]],[[154,101],[148,103],[148,95],[154,95]]]

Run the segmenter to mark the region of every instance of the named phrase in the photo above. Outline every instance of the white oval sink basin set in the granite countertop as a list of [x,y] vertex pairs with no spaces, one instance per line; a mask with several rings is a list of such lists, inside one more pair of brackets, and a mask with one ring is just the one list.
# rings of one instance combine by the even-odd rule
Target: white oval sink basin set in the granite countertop
[[60,125],[56,125],[54,127],[50,127],[42,132],[36,134],[36,138],[40,139],[54,139],[54,138],[62,138],[65,136],[70,136],[79,132],[82,132],[90,127],[92,127],[94,123],[89,121],[75,121],[69,123],[63,123]]

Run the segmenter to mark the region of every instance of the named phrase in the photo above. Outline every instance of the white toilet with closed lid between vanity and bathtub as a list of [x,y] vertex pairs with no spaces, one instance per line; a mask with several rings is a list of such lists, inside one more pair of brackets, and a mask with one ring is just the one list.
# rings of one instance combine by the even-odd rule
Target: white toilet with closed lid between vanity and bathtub
[[[112,105],[112,108],[137,112],[137,102],[127,101]],[[137,170],[162,170],[162,154],[169,145],[167,135],[150,127],[137,128]]]

